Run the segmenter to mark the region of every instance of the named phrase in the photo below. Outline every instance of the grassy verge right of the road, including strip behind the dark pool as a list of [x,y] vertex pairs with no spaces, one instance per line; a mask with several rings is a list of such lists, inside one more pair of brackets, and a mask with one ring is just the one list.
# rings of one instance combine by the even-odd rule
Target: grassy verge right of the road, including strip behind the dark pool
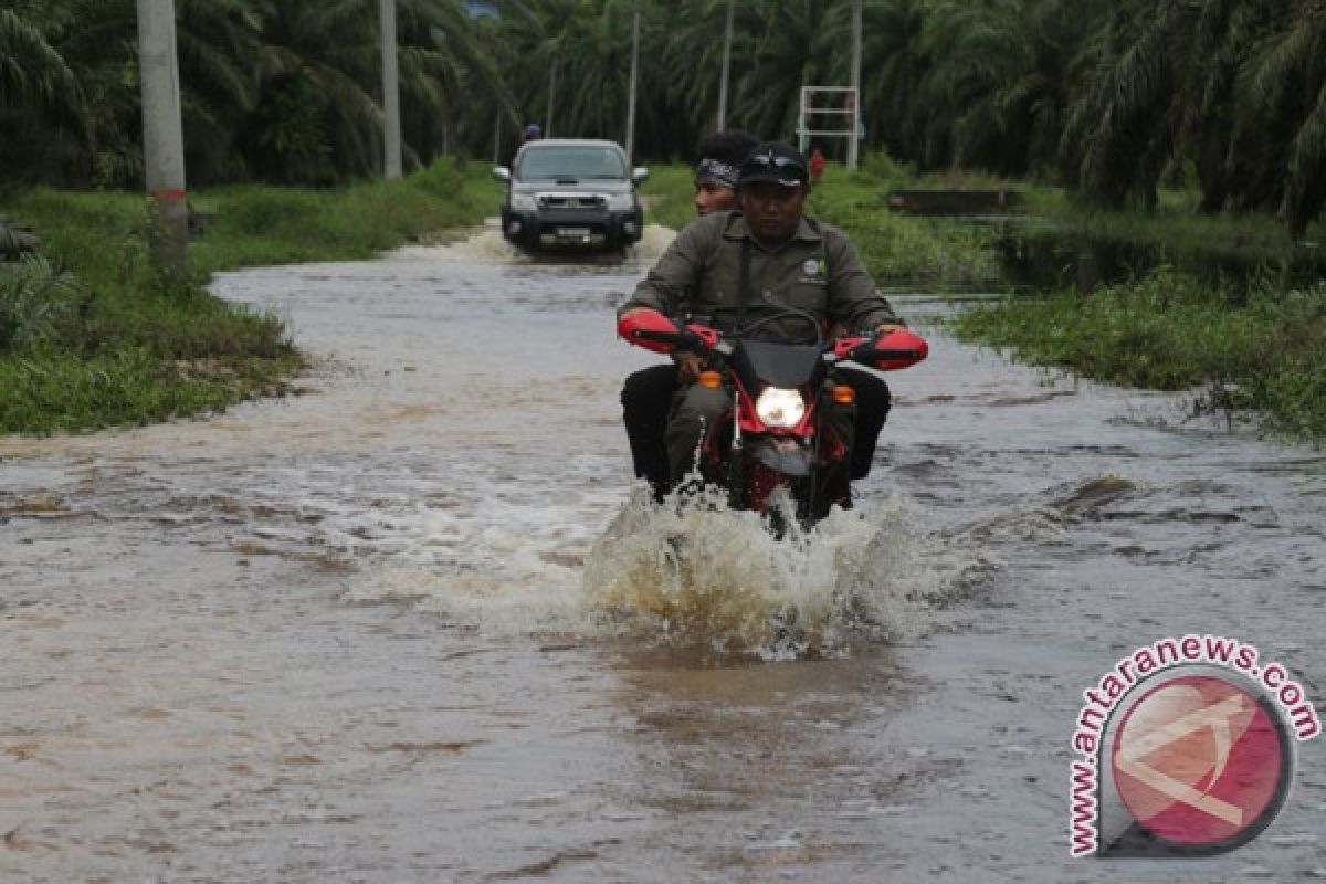
[[[1201,215],[1197,196],[1162,191],[1152,213],[1105,212],[1058,188],[1025,187],[1045,236],[1138,247],[1152,270],[1082,293],[1017,296],[969,307],[960,338],[1022,362],[1130,387],[1193,390],[1197,412],[1240,414],[1285,441],[1326,439],[1326,223],[1306,243],[1268,215]],[[1179,269],[1183,268],[1183,269]]]

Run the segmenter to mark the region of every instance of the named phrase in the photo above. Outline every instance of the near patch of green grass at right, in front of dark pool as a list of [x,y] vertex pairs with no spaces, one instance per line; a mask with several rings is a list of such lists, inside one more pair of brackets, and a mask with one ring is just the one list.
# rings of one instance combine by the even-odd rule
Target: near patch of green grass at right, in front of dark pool
[[1130,387],[1197,388],[1205,411],[1257,410],[1264,429],[1326,439],[1326,284],[1249,294],[1160,269],[1087,296],[1061,292],[972,307],[967,341]]

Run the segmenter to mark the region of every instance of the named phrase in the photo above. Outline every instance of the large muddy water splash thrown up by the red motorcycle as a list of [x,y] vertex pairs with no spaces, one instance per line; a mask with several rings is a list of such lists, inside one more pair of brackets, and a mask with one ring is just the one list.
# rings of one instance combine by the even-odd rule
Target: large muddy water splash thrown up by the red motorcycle
[[709,645],[764,659],[831,656],[855,636],[923,632],[949,591],[932,545],[900,497],[834,510],[777,539],[757,513],[717,492],[678,506],[638,494],[585,565],[585,603],[643,640]]

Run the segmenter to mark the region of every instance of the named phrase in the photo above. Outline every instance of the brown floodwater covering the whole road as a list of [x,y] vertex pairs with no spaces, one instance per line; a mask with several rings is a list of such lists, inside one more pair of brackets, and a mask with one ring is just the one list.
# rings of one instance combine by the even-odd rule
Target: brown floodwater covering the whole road
[[650,510],[611,307],[656,250],[225,274],[301,395],[0,440],[0,880],[1326,877],[1323,741],[1200,863],[1070,861],[1066,794],[1134,647],[1238,637],[1326,696],[1326,459],[915,296],[858,509]]

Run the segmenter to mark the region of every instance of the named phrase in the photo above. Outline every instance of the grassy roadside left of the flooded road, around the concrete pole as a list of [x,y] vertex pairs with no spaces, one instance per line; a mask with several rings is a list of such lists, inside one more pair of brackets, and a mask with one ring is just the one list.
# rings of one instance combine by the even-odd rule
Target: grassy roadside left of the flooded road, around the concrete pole
[[206,227],[190,244],[192,281],[175,286],[151,270],[141,196],[3,195],[0,213],[42,245],[0,264],[0,433],[146,424],[278,394],[301,355],[274,317],[210,294],[211,273],[370,257],[480,223],[499,192],[475,168],[442,162],[337,191],[195,193]]

